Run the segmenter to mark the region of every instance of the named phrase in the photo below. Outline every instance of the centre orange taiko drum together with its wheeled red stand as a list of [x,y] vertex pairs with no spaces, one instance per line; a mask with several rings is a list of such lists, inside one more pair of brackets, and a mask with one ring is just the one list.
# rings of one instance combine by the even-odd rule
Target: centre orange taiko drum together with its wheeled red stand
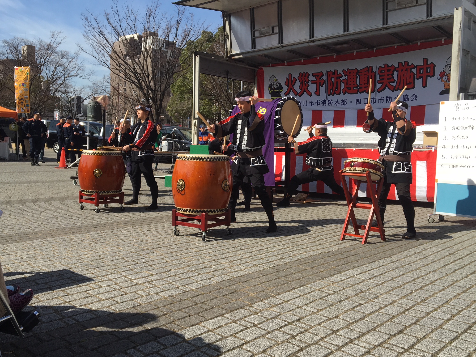
[[180,234],[177,226],[195,227],[203,232],[202,240],[205,240],[208,228],[221,225],[227,226],[227,234],[231,234],[228,202],[232,182],[228,156],[178,155],[172,174],[174,234]]

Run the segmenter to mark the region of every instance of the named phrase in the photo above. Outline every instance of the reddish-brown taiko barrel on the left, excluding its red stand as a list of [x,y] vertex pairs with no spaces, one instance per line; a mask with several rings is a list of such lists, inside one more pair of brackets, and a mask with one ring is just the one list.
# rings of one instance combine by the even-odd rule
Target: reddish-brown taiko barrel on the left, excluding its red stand
[[124,175],[121,151],[82,151],[78,179],[83,194],[119,194],[124,184]]

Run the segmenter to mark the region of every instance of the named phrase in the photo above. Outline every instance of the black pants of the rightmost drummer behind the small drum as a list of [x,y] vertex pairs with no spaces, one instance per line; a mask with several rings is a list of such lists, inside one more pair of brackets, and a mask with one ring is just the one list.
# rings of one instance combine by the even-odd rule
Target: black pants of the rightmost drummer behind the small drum
[[378,207],[380,207],[382,221],[384,220],[385,209],[387,208],[388,193],[392,185],[395,185],[395,188],[397,188],[398,200],[402,205],[403,213],[407,220],[407,230],[415,233],[415,208],[413,207],[413,201],[410,195],[410,184],[403,182],[389,183],[387,182],[387,175],[384,176],[382,191],[380,191],[380,197],[378,198]]

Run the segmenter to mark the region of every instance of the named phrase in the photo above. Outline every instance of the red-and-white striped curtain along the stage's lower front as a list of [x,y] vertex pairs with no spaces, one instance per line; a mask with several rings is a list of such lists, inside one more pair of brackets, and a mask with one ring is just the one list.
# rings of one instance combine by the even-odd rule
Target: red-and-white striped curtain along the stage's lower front
[[[284,152],[275,152],[274,172],[275,180],[284,180]],[[332,149],[334,158],[334,177],[340,184],[339,170],[344,168],[344,161],[349,158],[378,159],[377,149]],[[436,171],[436,150],[414,150],[412,152],[413,183],[410,185],[410,193],[413,201],[433,202],[435,196],[435,171]],[[306,165],[306,155],[296,155],[291,153],[290,177],[309,169]],[[352,181],[352,180],[349,180]],[[300,185],[300,191],[333,193],[322,181],[315,181]],[[352,183],[349,183],[352,190]],[[360,197],[368,197],[367,185],[361,185]],[[388,199],[398,199],[395,187],[390,190]]]

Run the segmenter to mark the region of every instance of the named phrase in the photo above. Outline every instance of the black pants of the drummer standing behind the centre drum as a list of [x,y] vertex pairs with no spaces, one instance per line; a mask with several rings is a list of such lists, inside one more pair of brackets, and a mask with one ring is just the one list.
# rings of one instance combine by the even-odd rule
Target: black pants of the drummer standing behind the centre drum
[[233,189],[231,191],[230,202],[228,203],[228,208],[231,208],[232,216],[235,215],[239,187],[243,184],[243,179],[246,176],[249,177],[249,181],[253,184],[253,188],[261,201],[261,206],[265,209],[269,222],[274,224],[273,202],[266,192],[264,175],[260,173],[246,175],[246,164],[243,160],[239,160],[238,172],[233,171]]

